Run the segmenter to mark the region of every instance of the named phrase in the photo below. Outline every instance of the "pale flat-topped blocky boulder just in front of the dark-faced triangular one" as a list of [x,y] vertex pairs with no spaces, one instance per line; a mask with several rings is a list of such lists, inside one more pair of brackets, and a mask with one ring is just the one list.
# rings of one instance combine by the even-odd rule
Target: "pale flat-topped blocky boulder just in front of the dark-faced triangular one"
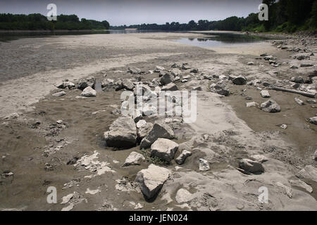
[[170,162],[173,160],[177,150],[178,143],[168,139],[157,139],[151,145],[151,157],[157,157],[166,162]]

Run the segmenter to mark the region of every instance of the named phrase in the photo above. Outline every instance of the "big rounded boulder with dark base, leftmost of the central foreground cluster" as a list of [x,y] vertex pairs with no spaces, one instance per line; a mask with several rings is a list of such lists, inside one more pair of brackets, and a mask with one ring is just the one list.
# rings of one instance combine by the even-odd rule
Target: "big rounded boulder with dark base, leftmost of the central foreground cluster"
[[116,148],[131,148],[137,143],[137,127],[131,117],[119,117],[104,133],[106,145]]

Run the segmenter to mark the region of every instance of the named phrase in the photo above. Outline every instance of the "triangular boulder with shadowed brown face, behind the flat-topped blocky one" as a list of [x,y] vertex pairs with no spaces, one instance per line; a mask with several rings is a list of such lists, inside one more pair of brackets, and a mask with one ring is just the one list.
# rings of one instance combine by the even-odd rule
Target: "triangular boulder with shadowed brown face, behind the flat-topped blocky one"
[[174,131],[164,122],[156,122],[153,128],[144,139],[142,139],[140,148],[149,148],[157,139],[173,139]]

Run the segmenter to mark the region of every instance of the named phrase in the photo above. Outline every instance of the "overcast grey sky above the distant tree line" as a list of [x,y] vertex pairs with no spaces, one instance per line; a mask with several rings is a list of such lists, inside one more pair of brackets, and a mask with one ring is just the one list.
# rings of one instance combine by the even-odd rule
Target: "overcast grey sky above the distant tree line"
[[246,17],[258,12],[262,0],[0,0],[0,13],[42,13],[54,3],[59,14],[107,20],[111,25],[189,20],[222,20],[232,15]]

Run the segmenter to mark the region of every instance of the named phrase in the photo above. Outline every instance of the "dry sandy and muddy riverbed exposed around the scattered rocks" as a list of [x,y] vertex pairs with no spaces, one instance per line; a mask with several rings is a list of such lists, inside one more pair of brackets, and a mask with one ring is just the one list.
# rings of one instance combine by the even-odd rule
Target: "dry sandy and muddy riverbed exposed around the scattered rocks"
[[[304,172],[298,177],[307,165],[316,167],[317,128],[306,120],[316,116],[316,104],[307,103],[311,98],[263,85],[294,89],[292,85],[298,83],[290,82],[292,77],[311,77],[311,84],[300,83],[297,89],[316,91],[316,39],[270,40],[217,49],[172,41],[182,37],[204,34],[90,34],[1,43],[0,61],[6,67],[0,70],[0,103],[5,105],[0,111],[4,117],[0,209],[317,210],[316,179]],[[263,53],[272,55],[270,60],[275,62],[265,60],[260,56]],[[299,60],[299,56],[304,58]],[[192,124],[182,123],[179,117],[144,116],[143,120],[168,124],[178,137],[174,141],[180,144],[176,157],[184,149],[192,155],[183,165],[174,160],[159,165],[170,170],[170,178],[149,201],[133,181],[150,162],[122,167],[132,151],[142,153],[139,146],[114,150],[104,144],[104,132],[120,117],[116,112],[122,90],[97,91],[96,97],[79,98],[81,90],[58,89],[55,84],[63,79],[77,84],[94,76],[99,82],[141,79],[152,86],[153,79],[159,79],[160,72],[153,71],[156,65],[170,70],[174,63],[190,67],[180,68],[180,80],[186,77],[187,82],[175,81],[178,89],[200,87],[197,120]],[[304,63],[312,66],[301,67]],[[297,69],[290,68],[292,65]],[[141,72],[128,72],[132,66]],[[198,71],[189,72],[192,69]],[[230,77],[238,75],[246,77],[248,84],[233,84]],[[211,91],[211,84],[218,82],[228,86],[229,96]],[[269,91],[280,105],[280,113],[247,108],[247,103],[268,100],[261,97],[261,90]],[[52,96],[59,91],[66,95]],[[295,102],[295,97],[305,105]],[[248,174],[236,169],[240,160],[252,155],[266,158],[261,162],[265,172]],[[91,167],[93,162],[87,156],[98,160],[97,168]],[[209,162],[210,169],[199,169],[200,158]],[[87,167],[77,165],[81,160]],[[46,203],[49,186],[56,187],[58,204]],[[261,186],[268,188],[267,204],[258,200]],[[189,194],[178,193],[181,188]],[[67,203],[59,204],[69,194],[73,196],[63,199]]]

